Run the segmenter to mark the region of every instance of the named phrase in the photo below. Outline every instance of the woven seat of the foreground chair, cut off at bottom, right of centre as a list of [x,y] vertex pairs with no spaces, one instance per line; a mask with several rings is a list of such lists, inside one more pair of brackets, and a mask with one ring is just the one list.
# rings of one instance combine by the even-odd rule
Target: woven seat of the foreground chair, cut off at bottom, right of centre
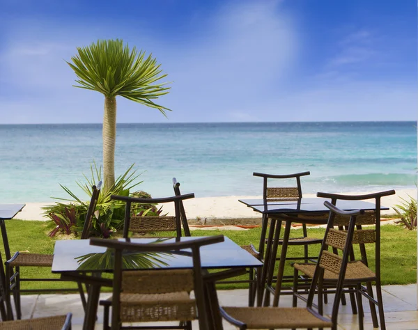
[[247,329],[329,328],[307,308],[222,307],[235,320],[247,324]]

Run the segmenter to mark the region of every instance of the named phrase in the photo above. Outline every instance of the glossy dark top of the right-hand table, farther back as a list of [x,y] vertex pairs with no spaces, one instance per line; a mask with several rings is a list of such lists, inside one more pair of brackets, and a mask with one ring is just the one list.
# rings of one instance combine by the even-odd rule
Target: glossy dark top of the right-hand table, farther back
[[[267,201],[263,199],[243,199],[240,200],[251,207],[254,211],[269,214],[287,214],[304,212],[328,212],[324,205],[327,198],[300,198],[296,201]],[[336,207],[341,210],[375,210],[374,203],[365,201],[336,201]],[[389,210],[389,207],[381,206],[380,210]]]

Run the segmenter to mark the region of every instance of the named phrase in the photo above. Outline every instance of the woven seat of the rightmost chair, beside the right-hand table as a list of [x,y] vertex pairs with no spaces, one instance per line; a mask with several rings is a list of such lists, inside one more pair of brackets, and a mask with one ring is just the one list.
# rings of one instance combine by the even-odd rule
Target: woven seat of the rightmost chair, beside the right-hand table
[[[314,276],[316,264],[293,264],[300,272],[304,273],[309,277]],[[329,270],[325,269],[324,274],[324,281],[336,281],[338,279],[338,274],[334,272],[330,272]],[[346,281],[370,281],[376,278],[376,274],[371,271],[369,267],[364,265],[361,261],[353,261],[348,262],[347,270],[346,270]]]

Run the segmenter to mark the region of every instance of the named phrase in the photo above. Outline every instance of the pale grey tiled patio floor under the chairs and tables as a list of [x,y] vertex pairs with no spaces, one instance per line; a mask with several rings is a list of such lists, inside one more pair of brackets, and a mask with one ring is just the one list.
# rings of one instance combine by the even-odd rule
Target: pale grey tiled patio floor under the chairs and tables
[[[224,306],[245,306],[247,303],[247,290],[224,290],[219,291],[218,294],[219,301]],[[106,297],[109,297],[109,294],[102,294],[102,298]],[[383,301],[385,302],[385,319],[388,330],[418,329],[417,287],[415,284],[386,285],[383,287]],[[300,302],[300,306],[303,306],[302,304],[304,303]],[[280,306],[291,306],[291,297],[282,297]],[[331,308],[331,304],[328,304],[325,307],[325,313],[329,313]],[[369,304],[366,304],[366,301],[364,301],[364,309],[364,329],[373,329]],[[69,312],[72,313],[72,329],[82,329],[84,311],[78,294],[41,294],[22,297],[22,313],[24,318],[58,315]],[[99,308],[96,329],[102,329],[102,308]],[[199,329],[197,322],[194,322],[193,329]],[[224,323],[224,330],[229,329],[236,328]],[[341,306],[340,308],[339,329],[358,329],[357,316],[351,313],[349,303],[347,306]]]

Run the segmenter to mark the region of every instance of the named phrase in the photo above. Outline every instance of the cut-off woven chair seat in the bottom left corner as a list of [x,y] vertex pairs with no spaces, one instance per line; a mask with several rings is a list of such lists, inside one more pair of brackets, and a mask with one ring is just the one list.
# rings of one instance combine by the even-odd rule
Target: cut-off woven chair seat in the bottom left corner
[[67,315],[0,322],[0,330],[61,330]]

